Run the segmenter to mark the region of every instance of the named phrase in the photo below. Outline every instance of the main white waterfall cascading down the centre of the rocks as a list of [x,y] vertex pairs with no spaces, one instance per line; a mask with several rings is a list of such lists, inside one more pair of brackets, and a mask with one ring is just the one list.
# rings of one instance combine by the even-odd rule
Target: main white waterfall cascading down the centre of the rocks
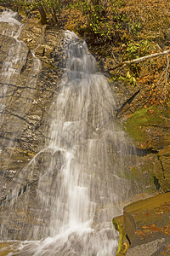
[[122,212],[130,188],[118,177],[125,165],[126,140],[116,128],[110,85],[74,32],[65,32],[64,55],[59,95],[49,110],[48,140],[23,171],[33,173],[37,157],[52,153],[37,184],[38,214],[48,224],[35,224],[27,236],[30,241],[8,255],[116,255],[118,236],[111,218]]

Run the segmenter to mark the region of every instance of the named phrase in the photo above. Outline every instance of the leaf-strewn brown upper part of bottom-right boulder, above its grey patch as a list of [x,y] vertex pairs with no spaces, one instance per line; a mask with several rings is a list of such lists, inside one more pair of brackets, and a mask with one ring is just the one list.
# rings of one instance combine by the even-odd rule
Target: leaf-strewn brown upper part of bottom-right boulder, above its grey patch
[[[142,234],[141,232],[139,236],[146,237],[149,233],[151,234],[152,231],[163,233],[164,226],[167,226],[168,229],[170,228],[169,201],[170,193],[156,195],[141,201],[133,202],[127,207],[124,207],[124,212],[127,212],[128,216],[133,217],[136,230],[142,230],[144,233]],[[125,230],[128,230],[129,222],[125,220],[126,219],[124,218]],[[153,229],[155,226],[157,230]],[[136,230],[133,232],[133,239],[134,236],[138,236]],[[128,231],[127,236],[130,236]],[[133,242],[133,239],[131,242]]]

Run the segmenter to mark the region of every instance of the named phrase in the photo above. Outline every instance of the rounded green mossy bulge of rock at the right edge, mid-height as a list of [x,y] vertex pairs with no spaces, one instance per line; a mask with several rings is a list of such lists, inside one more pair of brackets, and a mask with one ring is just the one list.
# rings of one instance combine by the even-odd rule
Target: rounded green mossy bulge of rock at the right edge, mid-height
[[159,150],[170,144],[170,107],[143,108],[127,117],[125,131],[139,148]]

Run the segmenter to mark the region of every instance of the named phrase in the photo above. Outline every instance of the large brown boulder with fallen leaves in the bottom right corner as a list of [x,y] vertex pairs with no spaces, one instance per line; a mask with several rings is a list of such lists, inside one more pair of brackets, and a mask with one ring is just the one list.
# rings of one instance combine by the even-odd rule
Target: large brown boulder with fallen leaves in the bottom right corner
[[[120,232],[117,256],[168,255],[170,253],[170,192],[133,202],[123,217],[113,218]],[[125,239],[129,247],[125,250]]]

